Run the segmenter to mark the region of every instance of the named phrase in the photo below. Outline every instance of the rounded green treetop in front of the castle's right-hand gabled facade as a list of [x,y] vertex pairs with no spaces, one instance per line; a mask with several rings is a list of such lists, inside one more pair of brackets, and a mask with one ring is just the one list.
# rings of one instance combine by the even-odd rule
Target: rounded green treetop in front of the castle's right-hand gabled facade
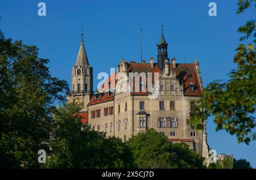
[[203,158],[183,143],[172,144],[150,128],[127,142],[137,168],[205,168]]

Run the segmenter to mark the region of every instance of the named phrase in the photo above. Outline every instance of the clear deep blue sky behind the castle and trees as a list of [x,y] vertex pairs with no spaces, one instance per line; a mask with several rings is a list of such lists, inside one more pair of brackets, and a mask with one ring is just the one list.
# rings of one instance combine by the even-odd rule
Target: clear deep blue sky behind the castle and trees
[[[46,17],[38,16],[38,3],[46,3]],[[208,15],[210,2],[217,3],[217,16]],[[39,55],[50,60],[51,74],[71,83],[84,27],[84,41],[89,63],[94,67],[94,89],[98,72],[110,73],[122,58],[156,59],[156,43],[161,25],[168,42],[169,57],[177,63],[200,62],[204,85],[212,80],[228,79],[235,68],[233,57],[240,43],[238,27],[255,17],[253,8],[237,15],[234,0],[183,1],[13,1],[0,3],[0,28],[6,37],[36,45]],[[209,119],[208,144],[217,153],[246,158],[256,168],[256,142],[238,144],[235,136],[215,131]]]

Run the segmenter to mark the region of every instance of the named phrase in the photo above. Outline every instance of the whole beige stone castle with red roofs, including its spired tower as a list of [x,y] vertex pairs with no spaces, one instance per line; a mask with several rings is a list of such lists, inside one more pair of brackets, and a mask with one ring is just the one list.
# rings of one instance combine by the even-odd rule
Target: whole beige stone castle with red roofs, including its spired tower
[[178,63],[168,58],[164,35],[157,44],[157,61],[127,62],[93,92],[93,68],[84,41],[72,68],[72,91],[68,102],[83,104],[82,116],[96,131],[125,142],[138,132],[154,128],[174,143],[183,142],[208,159],[207,132],[188,125],[192,100],[203,92],[199,62]]

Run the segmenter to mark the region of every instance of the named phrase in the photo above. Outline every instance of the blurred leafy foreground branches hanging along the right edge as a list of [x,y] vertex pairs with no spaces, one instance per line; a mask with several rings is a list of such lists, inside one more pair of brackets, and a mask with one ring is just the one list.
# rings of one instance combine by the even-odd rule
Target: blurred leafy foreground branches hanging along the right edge
[[[253,6],[255,0],[239,0],[237,14]],[[205,87],[199,101],[191,102],[193,114],[188,123],[200,129],[212,115],[216,130],[225,129],[236,135],[238,142],[250,143],[256,139],[256,58],[255,58],[255,20],[249,20],[238,29],[243,33],[240,41],[252,40],[236,49],[234,63],[237,68],[229,73],[228,82],[216,80]]]

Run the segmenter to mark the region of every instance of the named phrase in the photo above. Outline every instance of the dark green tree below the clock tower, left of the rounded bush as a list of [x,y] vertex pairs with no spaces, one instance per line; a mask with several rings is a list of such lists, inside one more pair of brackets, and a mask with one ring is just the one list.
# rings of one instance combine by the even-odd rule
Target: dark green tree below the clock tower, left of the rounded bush
[[82,125],[75,102],[60,107],[53,118],[52,139],[44,168],[133,168],[131,151],[119,138]]

